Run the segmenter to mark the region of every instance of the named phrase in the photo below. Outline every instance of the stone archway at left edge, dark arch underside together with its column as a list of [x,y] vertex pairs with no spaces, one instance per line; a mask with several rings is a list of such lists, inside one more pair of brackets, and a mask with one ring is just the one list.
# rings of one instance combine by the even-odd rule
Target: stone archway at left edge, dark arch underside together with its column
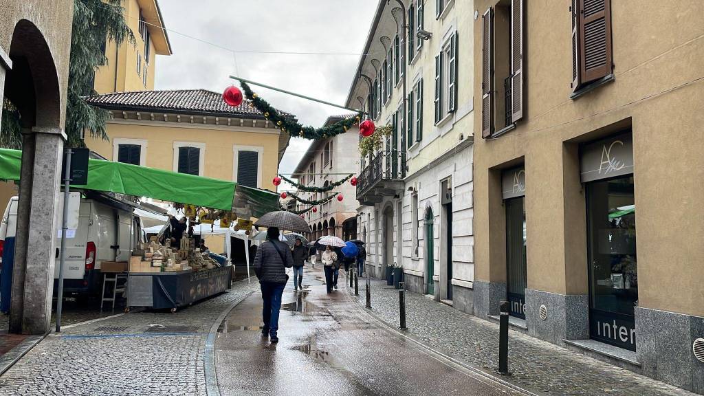
[[[47,22],[42,20],[42,23]],[[54,23],[67,23],[70,26],[70,20],[56,21],[55,18]],[[11,37],[8,56],[12,67],[6,70],[2,93],[20,112],[23,155],[18,226],[13,241],[15,254],[12,264],[10,332],[44,334],[49,330],[51,297],[54,292],[57,229],[54,213],[58,202],[56,197],[60,192],[59,179],[65,140],[65,91],[62,92],[60,83],[64,79],[57,72],[52,48],[54,51],[66,50],[64,61],[68,65],[70,33],[68,37],[62,38],[65,43],[54,42],[54,47],[51,47],[37,25],[30,20],[19,19]],[[0,77],[4,74],[0,73]],[[0,78],[0,82],[2,80]]]

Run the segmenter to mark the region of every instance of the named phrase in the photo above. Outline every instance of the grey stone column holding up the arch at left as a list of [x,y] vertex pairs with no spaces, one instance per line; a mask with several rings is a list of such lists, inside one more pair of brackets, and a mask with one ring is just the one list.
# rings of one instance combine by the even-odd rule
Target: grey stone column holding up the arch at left
[[29,144],[23,150],[20,180],[12,333],[44,334],[50,328],[64,138],[58,128],[32,128],[25,138]]

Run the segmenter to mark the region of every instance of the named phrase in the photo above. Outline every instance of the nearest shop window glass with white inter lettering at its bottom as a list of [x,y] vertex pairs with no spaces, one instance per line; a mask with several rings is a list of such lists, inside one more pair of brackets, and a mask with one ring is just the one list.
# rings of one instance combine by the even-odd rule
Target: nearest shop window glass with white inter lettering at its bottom
[[633,176],[586,183],[591,338],[636,350],[638,304]]

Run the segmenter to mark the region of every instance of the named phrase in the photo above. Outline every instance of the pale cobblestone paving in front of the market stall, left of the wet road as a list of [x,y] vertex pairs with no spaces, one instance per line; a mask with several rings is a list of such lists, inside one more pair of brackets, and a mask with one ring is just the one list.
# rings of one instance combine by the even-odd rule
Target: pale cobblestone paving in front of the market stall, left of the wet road
[[1,395],[205,395],[210,327],[258,283],[171,314],[130,312],[52,333],[0,377]]

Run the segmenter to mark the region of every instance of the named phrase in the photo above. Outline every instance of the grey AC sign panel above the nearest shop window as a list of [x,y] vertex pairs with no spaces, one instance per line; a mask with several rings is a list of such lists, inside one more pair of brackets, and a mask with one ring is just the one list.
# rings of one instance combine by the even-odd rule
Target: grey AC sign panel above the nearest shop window
[[582,149],[582,182],[633,173],[631,132],[586,144]]

